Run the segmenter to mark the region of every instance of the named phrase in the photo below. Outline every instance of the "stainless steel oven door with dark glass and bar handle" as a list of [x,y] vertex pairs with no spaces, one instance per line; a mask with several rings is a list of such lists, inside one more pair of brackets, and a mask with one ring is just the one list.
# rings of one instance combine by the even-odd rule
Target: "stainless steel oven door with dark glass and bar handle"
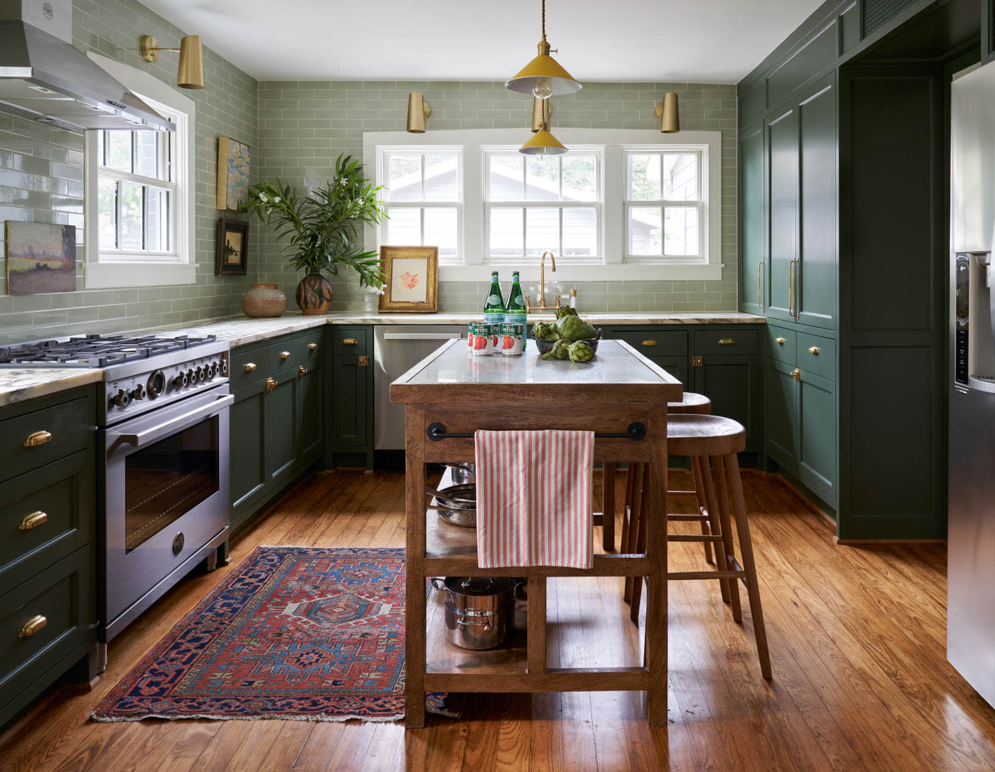
[[228,385],[104,437],[102,624],[228,525]]

